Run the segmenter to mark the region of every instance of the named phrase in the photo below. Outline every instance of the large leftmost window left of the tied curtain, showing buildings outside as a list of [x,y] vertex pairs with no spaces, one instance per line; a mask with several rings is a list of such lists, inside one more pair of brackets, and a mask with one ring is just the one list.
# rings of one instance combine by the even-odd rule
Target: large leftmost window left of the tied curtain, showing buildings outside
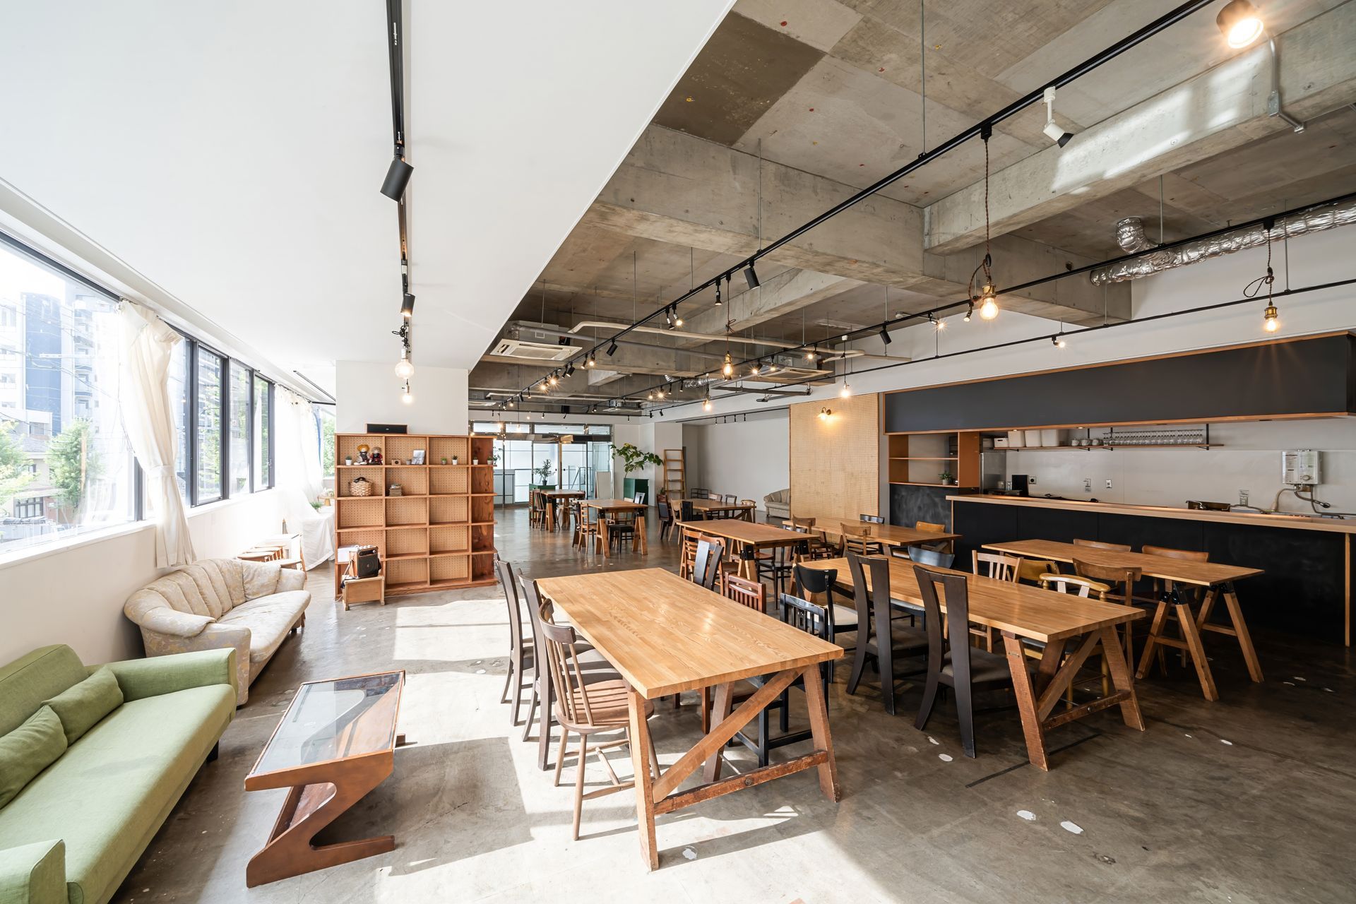
[[0,552],[137,518],[118,302],[0,241]]

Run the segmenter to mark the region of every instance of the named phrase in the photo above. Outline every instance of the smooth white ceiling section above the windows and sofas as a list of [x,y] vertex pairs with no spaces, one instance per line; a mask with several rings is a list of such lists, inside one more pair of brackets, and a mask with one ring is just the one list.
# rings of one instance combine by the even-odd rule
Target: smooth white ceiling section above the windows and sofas
[[[419,362],[475,363],[730,5],[407,0]],[[8,4],[0,179],[279,369],[393,361],[384,14]]]

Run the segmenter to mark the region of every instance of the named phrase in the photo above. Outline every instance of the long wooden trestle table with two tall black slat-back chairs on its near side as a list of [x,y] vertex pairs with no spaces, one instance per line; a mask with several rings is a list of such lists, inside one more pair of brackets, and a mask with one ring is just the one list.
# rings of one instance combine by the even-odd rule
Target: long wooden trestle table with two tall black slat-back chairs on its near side
[[[894,606],[921,610],[923,596],[918,590],[914,564],[904,558],[885,557],[890,562],[890,599]],[[853,588],[852,569],[846,558],[823,558],[801,562],[805,568],[837,569],[837,583],[849,591]],[[949,568],[930,571],[951,575],[965,575]],[[866,588],[871,590],[871,572],[865,572]],[[1144,731],[1144,718],[1139,713],[1139,698],[1135,695],[1135,682],[1130,665],[1116,637],[1116,626],[1144,615],[1143,611],[1117,603],[1085,599],[1051,590],[993,580],[979,575],[965,575],[970,592],[970,621],[993,628],[1002,633],[1003,652],[1012,670],[1013,691],[1017,697],[1017,710],[1021,714],[1022,735],[1026,739],[1026,756],[1033,766],[1050,770],[1050,756],[1045,749],[1045,733],[1054,728],[1085,718],[1109,706],[1120,706],[1120,717],[1125,725]],[[946,611],[944,594],[938,594],[941,610]],[[877,636],[890,636],[890,614],[876,613]],[[1026,651],[1022,640],[1040,641],[1045,645],[1036,674],[1026,671]],[[1077,644],[1077,646],[1071,646]],[[1073,684],[1074,676],[1088,657],[1101,646],[1102,657],[1111,672],[1112,693],[1088,703],[1070,706],[1054,714],[1062,695]],[[1066,657],[1064,653],[1070,652]],[[894,675],[890,644],[880,645],[881,679]]]

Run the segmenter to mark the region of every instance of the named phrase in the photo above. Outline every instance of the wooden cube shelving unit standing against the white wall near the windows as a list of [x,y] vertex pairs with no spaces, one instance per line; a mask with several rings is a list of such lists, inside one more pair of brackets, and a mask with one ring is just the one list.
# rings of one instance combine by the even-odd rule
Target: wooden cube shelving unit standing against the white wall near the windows
[[[358,461],[359,445],[401,464],[344,465]],[[424,464],[408,464],[419,449]],[[335,546],[376,546],[388,596],[495,583],[491,454],[492,436],[338,434]],[[370,496],[353,495],[355,477],[372,481]],[[400,484],[400,496],[391,495],[392,484]]]

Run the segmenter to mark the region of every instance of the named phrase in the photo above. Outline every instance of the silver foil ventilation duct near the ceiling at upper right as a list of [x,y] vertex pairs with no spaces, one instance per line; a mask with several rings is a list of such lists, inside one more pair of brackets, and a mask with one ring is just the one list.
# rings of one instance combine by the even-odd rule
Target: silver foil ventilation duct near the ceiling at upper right
[[1139,279],[1140,276],[1150,276],[1163,270],[1172,270],[1173,267],[1185,267],[1207,258],[1231,255],[1245,248],[1261,248],[1267,244],[1268,234],[1272,241],[1279,241],[1281,239],[1292,239],[1352,224],[1356,224],[1356,199],[1311,207],[1290,217],[1279,217],[1269,233],[1262,225],[1246,226],[1154,252],[1154,243],[1144,236],[1144,222],[1139,217],[1127,217],[1116,224],[1116,244],[1125,253],[1139,251],[1150,251],[1153,253],[1140,255],[1134,260],[1123,260],[1108,267],[1098,267],[1092,272],[1092,281],[1094,286],[1105,286],[1112,282]]

